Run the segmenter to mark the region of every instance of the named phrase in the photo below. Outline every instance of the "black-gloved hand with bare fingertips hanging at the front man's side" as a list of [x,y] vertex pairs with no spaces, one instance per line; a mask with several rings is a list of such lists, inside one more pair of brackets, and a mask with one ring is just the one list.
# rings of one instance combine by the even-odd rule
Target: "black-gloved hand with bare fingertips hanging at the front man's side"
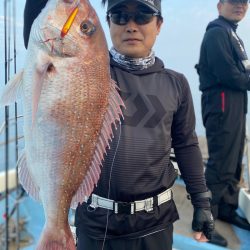
[[194,208],[192,229],[194,239],[206,242],[211,239],[214,231],[214,218],[209,208]]

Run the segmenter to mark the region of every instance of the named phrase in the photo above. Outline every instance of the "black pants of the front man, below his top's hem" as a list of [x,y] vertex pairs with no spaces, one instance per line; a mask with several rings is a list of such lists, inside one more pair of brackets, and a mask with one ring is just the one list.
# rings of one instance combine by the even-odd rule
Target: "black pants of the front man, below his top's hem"
[[[103,247],[104,243],[104,248]],[[171,250],[173,225],[167,229],[136,239],[95,240],[77,232],[77,250]]]

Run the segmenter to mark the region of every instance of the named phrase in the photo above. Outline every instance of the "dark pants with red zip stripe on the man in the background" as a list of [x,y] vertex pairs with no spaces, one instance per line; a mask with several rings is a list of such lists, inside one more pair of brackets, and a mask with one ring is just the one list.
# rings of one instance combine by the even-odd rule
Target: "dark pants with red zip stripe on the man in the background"
[[209,152],[205,176],[213,195],[215,218],[230,215],[238,207],[246,106],[245,92],[213,89],[202,94],[202,117]]

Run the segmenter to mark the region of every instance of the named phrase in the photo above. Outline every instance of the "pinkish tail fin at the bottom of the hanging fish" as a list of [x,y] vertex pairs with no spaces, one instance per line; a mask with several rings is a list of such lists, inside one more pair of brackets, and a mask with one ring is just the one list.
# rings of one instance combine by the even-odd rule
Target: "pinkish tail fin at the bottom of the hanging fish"
[[45,227],[36,250],[76,250],[70,227],[63,229]]

